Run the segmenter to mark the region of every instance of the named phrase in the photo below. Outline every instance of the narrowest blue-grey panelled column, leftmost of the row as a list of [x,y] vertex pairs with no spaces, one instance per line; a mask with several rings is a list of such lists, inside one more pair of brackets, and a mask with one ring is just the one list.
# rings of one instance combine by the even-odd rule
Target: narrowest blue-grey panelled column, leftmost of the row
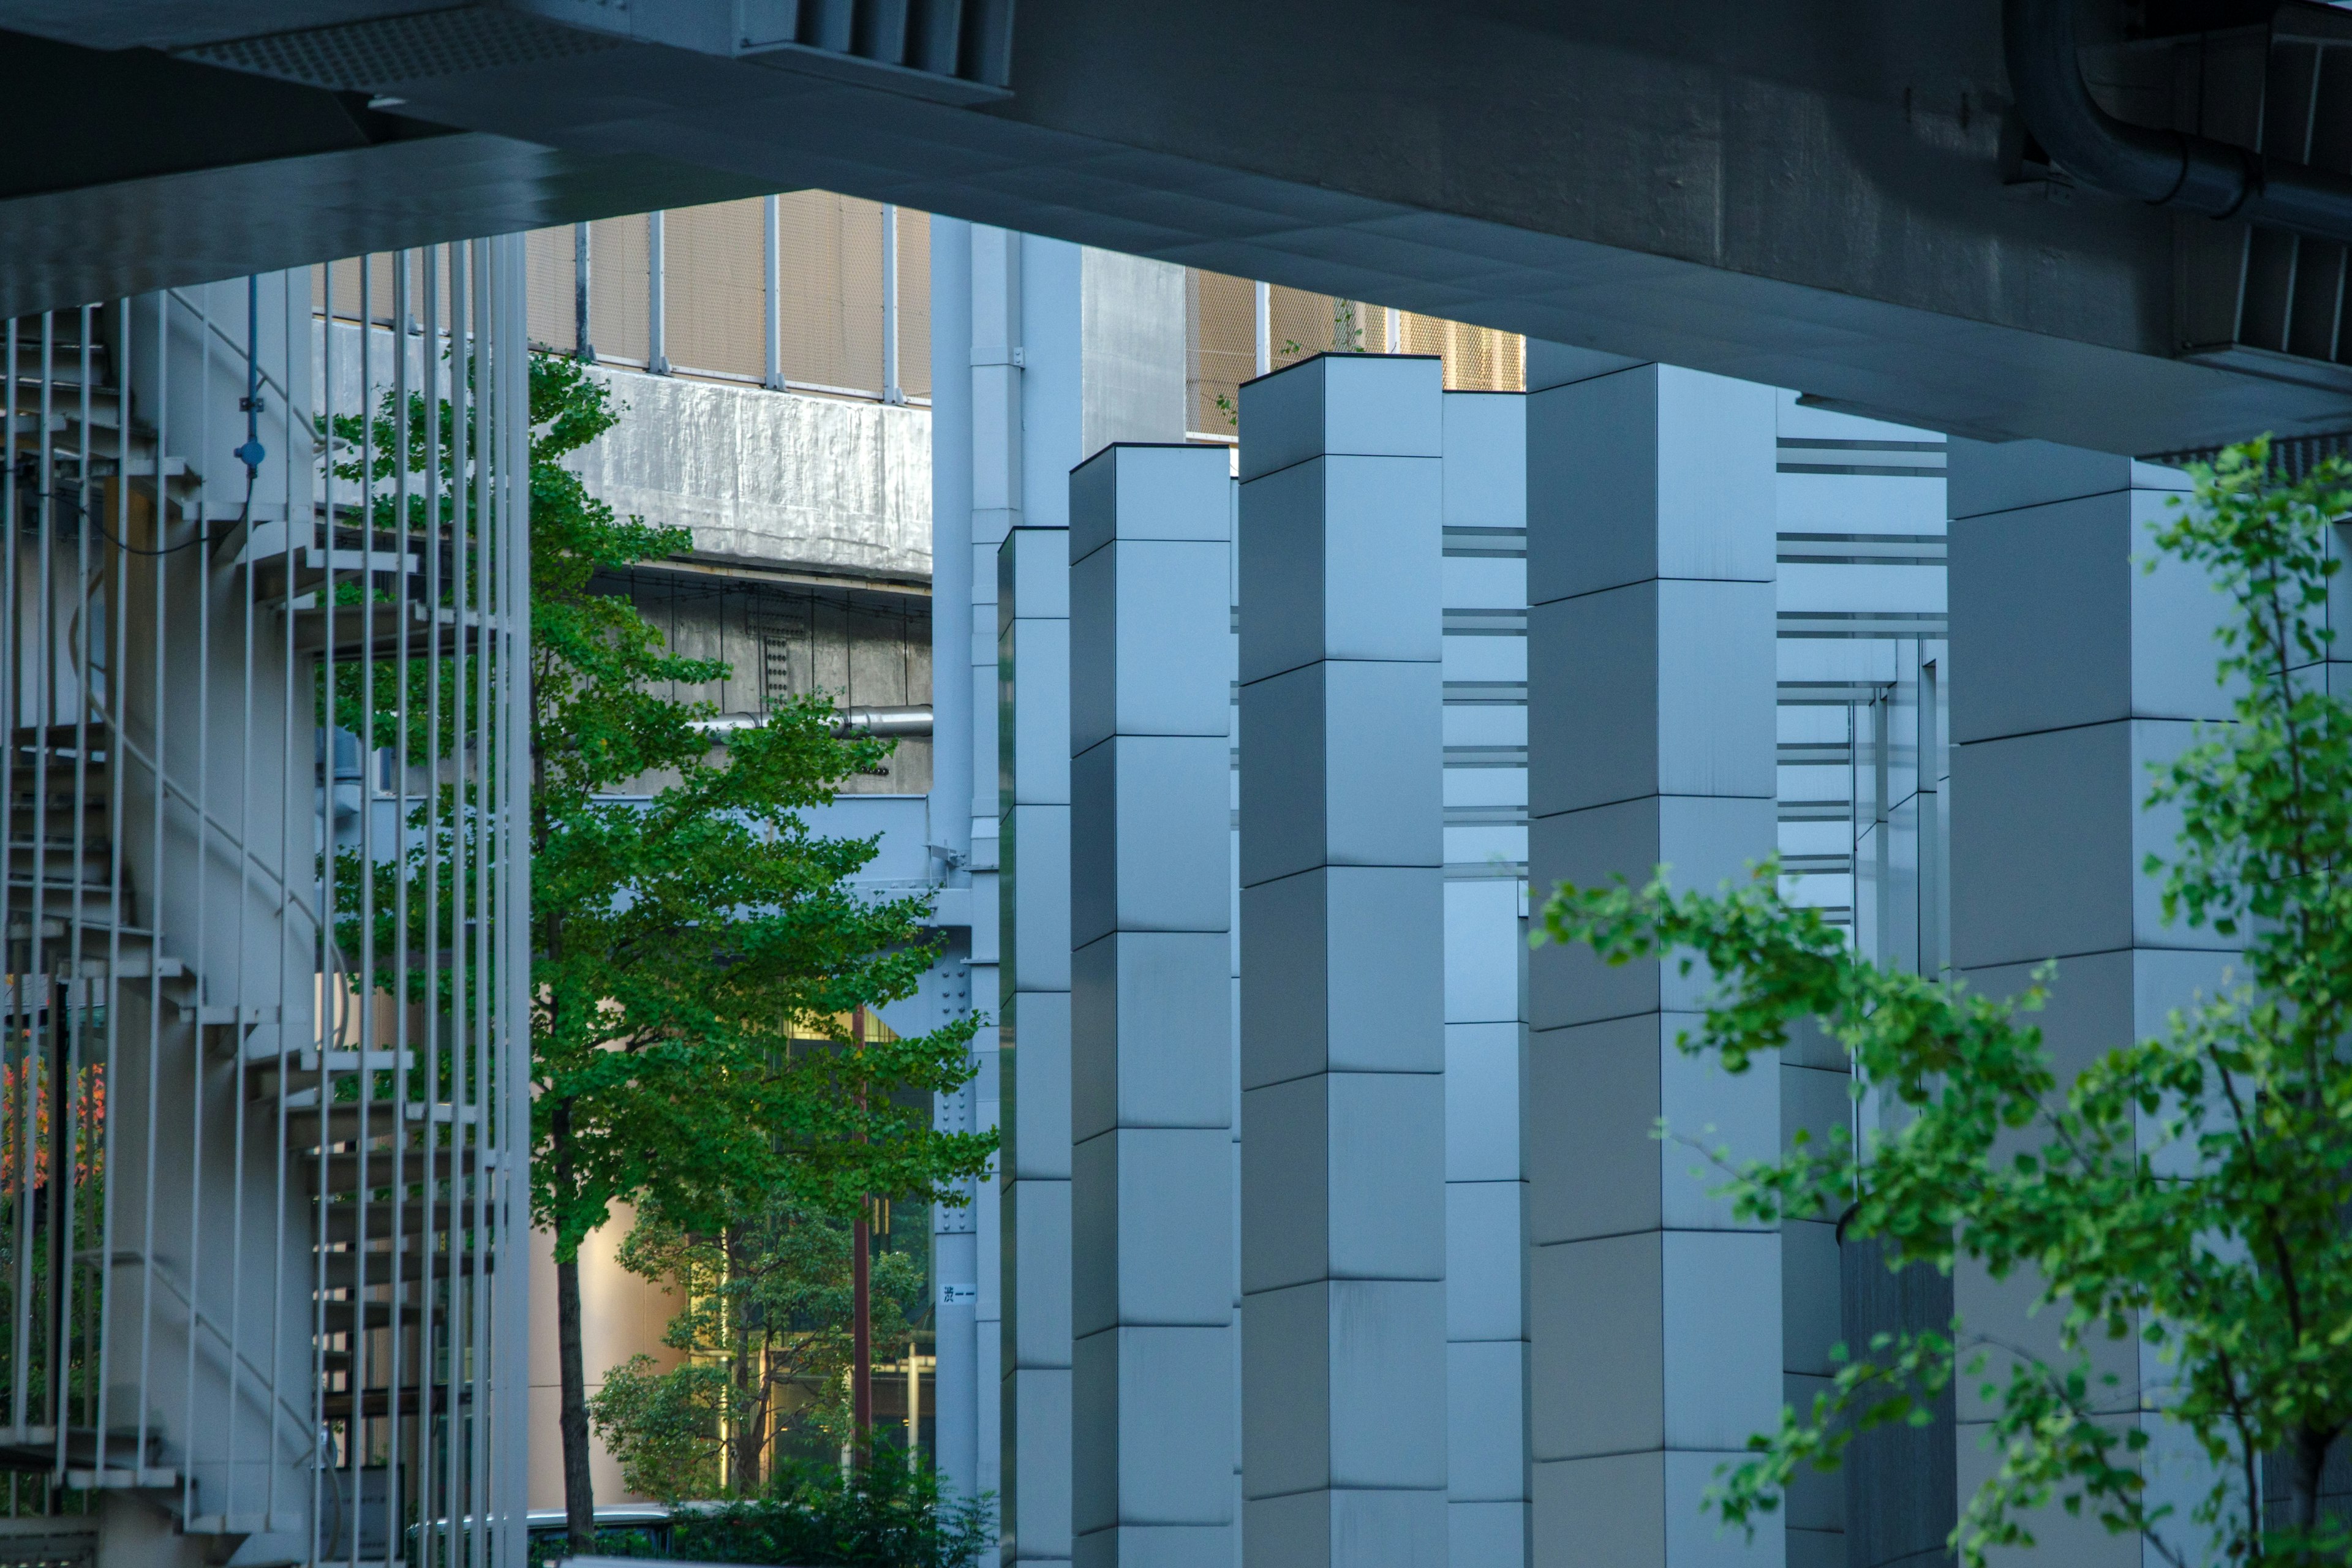
[[1068,529],[997,550],[1004,1561],[1070,1556]]

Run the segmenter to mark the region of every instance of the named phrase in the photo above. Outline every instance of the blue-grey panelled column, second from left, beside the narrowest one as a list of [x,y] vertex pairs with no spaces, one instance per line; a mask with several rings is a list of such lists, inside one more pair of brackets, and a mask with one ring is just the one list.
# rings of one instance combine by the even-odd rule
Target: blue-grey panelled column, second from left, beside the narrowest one
[[1232,1568],[1230,480],[1070,475],[1070,1331],[1080,1568]]

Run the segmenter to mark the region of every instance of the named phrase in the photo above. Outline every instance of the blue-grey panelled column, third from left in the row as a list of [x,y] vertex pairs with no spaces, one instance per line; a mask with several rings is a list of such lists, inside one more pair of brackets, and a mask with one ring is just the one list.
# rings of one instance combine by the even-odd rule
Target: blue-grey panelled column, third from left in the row
[[1251,1568],[1446,1559],[1442,369],[1242,388]]

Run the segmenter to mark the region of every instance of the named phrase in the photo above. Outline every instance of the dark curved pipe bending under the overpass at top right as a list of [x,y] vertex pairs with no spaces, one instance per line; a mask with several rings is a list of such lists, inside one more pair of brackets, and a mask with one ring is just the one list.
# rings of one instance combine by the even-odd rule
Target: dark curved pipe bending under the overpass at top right
[[2074,0],[2004,0],[2002,26],[2025,129],[2082,183],[2352,244],[2352,176],[2209,136],[2126,125],[2100,108],[2074,54]]

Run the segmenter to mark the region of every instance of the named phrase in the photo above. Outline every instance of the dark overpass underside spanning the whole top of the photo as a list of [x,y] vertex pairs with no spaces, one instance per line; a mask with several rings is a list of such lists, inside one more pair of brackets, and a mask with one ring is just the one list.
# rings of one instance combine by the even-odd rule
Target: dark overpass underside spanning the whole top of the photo
[[[2124,118],[2352,120],[2328,7],[2110,9]],[[652,12],[0,0],[0,310],[821,186],[1978,437],[2352,428],[2345,249],[2044,167],[1994,0]]]

